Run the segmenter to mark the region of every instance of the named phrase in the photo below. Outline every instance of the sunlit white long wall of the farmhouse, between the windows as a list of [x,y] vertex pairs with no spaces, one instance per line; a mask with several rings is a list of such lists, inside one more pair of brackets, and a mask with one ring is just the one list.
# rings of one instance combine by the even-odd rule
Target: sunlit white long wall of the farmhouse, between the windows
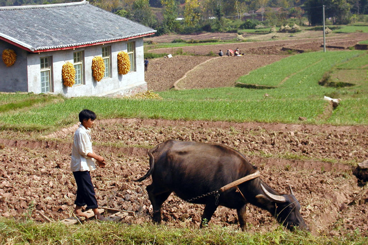
[[[41,93],[40,58],[52,56],[53,68],[53,94],[62,94],[66,97],[78,96],[106,96],[111,94],[129,95],[136,92],[147,91],[147,83],[144,81],[143,66],[143,38],[135,41],[136,71],[126,75],[119,75],[117,68],[117,54],[127,51],[127,42],[105,44],[111,46],[111,77],[101,81],[95,81],[92,75],[92,59],[94,56],[102,56],[103,45],[95,45],[78,49],[57,50],[40,53],[29,53],[27,60],[28,92]],[[84,78],[85,84],[66,87],[62,81],[62,65],[67,61],[73,63],[73,52],[84,51]]]

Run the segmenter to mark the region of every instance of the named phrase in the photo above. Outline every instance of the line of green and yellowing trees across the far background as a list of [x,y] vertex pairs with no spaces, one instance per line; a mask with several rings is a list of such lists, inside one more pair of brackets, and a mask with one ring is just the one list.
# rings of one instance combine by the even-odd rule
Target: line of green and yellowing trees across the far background
[[[0,6],[47,4],[80,0],[0,0]],[[91,4],[158,30],[158,34],[231,31],[237,28],[285,25],[288,18],[306,18],[309,25],[325,18],[334,25],[349,24],[368,14],[368,0],[90,0]],[[281,10],[280,10],[281,9]],[[258,16],[254,14],[258,10]],[[251,13],[251,14],[249,14]],[[183,18],[183,21],[178,18]],[[231,22],[237,22],[237,26]],[[303,24],[302,22],[299,24]]]

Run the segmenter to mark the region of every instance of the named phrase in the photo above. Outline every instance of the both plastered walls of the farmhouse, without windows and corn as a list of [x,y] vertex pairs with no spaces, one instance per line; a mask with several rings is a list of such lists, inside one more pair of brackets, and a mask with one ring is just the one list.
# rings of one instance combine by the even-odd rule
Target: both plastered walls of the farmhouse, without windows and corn
[[[17,60],[11,67],[0,65],[0,91],[3,92],[33,92],[42,93],[40,59],[50,57],[51,93],[62,94],[65,97],[131,95],[147,91],[144,81],[143,38],[129,40],[135,43],[135,71],[128,74],[118,74],[117,55],[120,51],[127,52],[127,41],[114,42],[105,45],[95,45],[76,49],[54,50],[30,53],[6,42],[0,43],[0,50],[13,49]],[[110,77],[96,81],[92,75],[92,59],[102,56],[102,48],[110,47]],[[74,52],[83,51],[83,81],[80,85],[67,87],[62,80],[62,66],[66,62],[74,63]],[[133,60],[131,62],[134,62]]]

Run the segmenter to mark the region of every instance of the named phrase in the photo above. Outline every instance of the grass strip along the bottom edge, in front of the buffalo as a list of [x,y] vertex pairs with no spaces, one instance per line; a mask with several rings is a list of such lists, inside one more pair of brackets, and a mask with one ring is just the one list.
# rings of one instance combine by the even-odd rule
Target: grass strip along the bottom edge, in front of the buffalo
[[203,229],[171,228],[165,225],[124,223],[39,224],[33,221],[0,219],[2,244],[65,245],[364,245],[368,239],[359,233],[323,237],[288,232],[282,226],[264,233],[243,232],[232,227],[211,225]]

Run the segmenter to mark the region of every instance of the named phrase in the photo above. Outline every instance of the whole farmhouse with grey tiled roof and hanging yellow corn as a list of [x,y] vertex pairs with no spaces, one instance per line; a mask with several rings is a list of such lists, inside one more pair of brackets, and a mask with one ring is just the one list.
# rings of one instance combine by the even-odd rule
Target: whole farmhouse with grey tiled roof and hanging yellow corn
[[66,97],[144,92],[143,37],[155,32],[87,1],[0,7],[0,91]]

